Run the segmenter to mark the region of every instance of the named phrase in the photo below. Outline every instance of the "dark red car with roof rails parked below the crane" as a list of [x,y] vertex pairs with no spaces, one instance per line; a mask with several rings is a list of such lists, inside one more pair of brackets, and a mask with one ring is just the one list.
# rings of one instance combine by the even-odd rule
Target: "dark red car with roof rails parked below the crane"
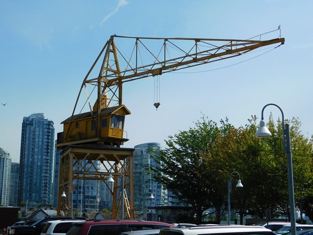
[[123,232],[174,227],[173,224],[135,219],[90,220],[74,222],[67,235],[119,235]]

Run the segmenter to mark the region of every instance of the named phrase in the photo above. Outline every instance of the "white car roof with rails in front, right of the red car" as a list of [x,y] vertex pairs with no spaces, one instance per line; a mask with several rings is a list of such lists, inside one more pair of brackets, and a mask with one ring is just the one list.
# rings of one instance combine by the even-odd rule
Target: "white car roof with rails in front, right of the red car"
[[199,234],[275,235],[275,233],[270,229],[266,229],[261,226],[246,226],[246,225],[170,227],[161,229],[159,233],[159,235],[199,235]]

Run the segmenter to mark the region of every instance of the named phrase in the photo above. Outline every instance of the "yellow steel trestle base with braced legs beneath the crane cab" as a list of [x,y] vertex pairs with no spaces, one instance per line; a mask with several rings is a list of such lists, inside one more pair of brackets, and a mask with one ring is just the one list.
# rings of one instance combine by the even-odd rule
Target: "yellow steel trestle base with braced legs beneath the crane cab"
[[[122,194],[118,193],[121,189],[120,177],[124,179],[124,191],[127,194],[127,203],[124,203],[127,217],[134,219],[134,173],[133,173],[133,148],[117,148],[100,145],[68,145],[61,153],[60,158],[60,178],[58,189],[57,214],[71,216],[71,198],[67,193],[65,199],[61,199],[63,191],[70,187],[74,190],[82,180],[103,181],[112,194],[112,219],[121,213]],[[99,169],[98,164],[101,164]],[[92,169],[92,170],[90,170]],[[122,173],[120,170],[122,169]],[[109,175],[112,174],[114,183],[112,186],[107,183]],[[77,184],[73,185],[73,180]],[[68,187],[67,187],[68,186]],[[125,197],[124,197],[125,199]],[[79,208],[73,208],[73,210]],[[120,215],[121,216],[121,215]]]

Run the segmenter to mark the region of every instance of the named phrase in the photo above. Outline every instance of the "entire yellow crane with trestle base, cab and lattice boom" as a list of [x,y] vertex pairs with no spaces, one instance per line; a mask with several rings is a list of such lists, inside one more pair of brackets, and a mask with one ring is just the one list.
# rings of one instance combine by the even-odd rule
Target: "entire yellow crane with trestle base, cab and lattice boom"
[[[272,39],[270,35],[277,30],[279,37]],[[58,198],[67,186],[72,190],[77,187],[75,179],[102,180],[109,187],[108,176],[121,174],[125,188],[114,180],[112,218],[116,211],[124,211],[123,205],[129,205],[129,215],[122,217],[134,218],[134,149],[120,148],[128,141],[124,122],[131,114],[123,105],[123,83],[234,58],[260,47],[279,47],[285,39],[280,36],[280,27],[277,30],[247,40],[112,35],[88,71],[72,115],[62,122],[63,132],[57,136],[56,147],[62,149]],[[86,98],[81,97],[83,90]],[[125,194],[117,196],[118,188]],[[126,198],[125,203],[121,198]],[[58,214],[68,212],[71,203],[68,199],[58,202]]]

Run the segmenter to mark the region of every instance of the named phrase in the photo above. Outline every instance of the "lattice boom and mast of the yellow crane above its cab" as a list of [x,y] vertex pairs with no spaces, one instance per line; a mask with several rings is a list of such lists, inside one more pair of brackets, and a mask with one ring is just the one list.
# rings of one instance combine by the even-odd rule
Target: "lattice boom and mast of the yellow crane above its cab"
[[[147,38],[113,35],[86,75],[80,94],[87,85],[97,87],[97,94],[88,94],[100,107],[122,104],[122,84],[149,76],[178,71],[185,68],[212,63],[250,52],[259,47],[285,42],[284,38],[269,40],[236,40],[205,38]],[[117,42],[119,44],[117,44]],[[98,66],[98,67],[97,67]],[[97,72],[98,71],[98,72]]]

